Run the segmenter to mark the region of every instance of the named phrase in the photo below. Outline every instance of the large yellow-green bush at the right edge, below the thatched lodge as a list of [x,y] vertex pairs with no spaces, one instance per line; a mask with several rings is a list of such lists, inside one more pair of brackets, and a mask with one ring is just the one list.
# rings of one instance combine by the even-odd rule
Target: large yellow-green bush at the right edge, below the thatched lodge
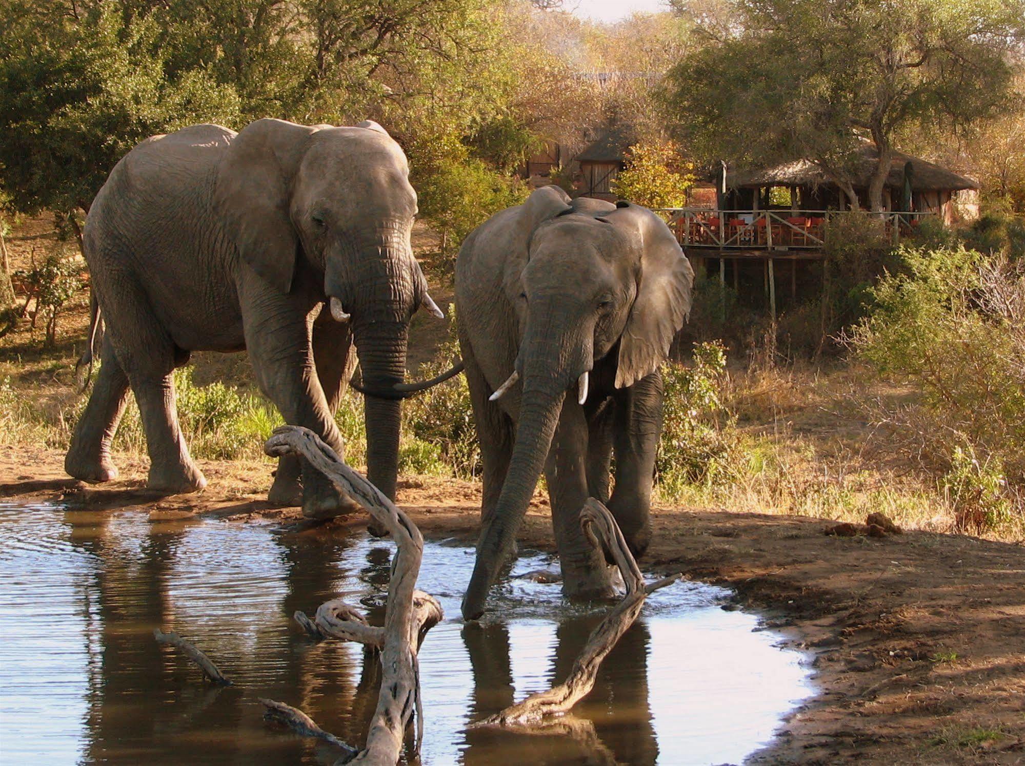
[[899,255],[849,340],[877,375],[918,390],[879,420],[941,477],[958,524],[993,528],[1025,485],[1025,272],[961,247]]

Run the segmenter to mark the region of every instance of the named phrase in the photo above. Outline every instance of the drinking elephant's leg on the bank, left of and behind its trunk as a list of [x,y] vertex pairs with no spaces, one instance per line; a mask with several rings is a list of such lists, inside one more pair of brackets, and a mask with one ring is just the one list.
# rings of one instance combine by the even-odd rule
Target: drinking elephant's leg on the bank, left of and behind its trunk
[[488,383],[477,365],[469,344],[463,345],[463,373],[469,387],[469,399],[474,408],[474,422],[477,424],[477,438],[481,444],[481,462],[484,470],[481,474],[482,495],[481,526],[487,526],[488,519],[498,504],[505,474],[509,468],[509,457],[512,455],[515,428],[509,417],[502,412],[495,401],[488,401],[491,395]]

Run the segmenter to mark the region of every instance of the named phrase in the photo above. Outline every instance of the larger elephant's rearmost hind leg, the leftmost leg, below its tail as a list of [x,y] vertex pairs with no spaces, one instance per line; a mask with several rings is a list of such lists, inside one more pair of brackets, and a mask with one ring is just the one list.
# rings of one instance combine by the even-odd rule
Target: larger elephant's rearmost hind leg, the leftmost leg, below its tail
[[127,401],[128,376],[118,364],[110,339],[105,338],[92,393],[75,424],[65,457],[65,470],[69,474],[84,481],[117,478],[118,469],[111,461],[111,441]]

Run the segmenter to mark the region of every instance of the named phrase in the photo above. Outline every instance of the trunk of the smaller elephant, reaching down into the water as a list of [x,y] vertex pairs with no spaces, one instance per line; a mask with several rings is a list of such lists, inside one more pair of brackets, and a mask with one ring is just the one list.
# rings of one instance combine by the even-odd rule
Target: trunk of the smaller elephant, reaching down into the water
[[[538,312],[542,316],[546,313]],[[484,612],[488,591],[512,556],[517,534],[551,448],[566,391],[590,368],[590,359],[584,358],[586,347],[579,333],[569,332],[565,325],[559,327],[549,321],[528,327],[520,353],[524,360],[523,395],[516,443],[494,513],[484,519],[477,563],[462,601],[465,620],[477,620]]]

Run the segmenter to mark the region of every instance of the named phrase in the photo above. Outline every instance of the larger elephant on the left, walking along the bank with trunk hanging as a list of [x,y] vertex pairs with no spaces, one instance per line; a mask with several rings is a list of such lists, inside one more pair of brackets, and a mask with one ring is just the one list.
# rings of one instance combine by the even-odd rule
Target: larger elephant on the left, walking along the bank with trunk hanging
[[[340,452],[333,412],[354,341],[364,383],[389,387],[405,375],[413,312],[423,305],[441,314],[412,254],[417,210],[408,176],[402,148],[369,121],[306,127],[266,119],[239,133],[197,125],[129,152],[83,233],[107,332],[66,470],[89,481],[117,475],[110,445],[130,386],[149,485],[202,488],[171,377],[196,350],[248,350],[260,390],[285,420]],[[370,480],[393,498],[399,416],[399,400],[367,399]],[[319,472],[283,459],[271,499],[295,502],[300,492],[308,516],[348,507]]]

